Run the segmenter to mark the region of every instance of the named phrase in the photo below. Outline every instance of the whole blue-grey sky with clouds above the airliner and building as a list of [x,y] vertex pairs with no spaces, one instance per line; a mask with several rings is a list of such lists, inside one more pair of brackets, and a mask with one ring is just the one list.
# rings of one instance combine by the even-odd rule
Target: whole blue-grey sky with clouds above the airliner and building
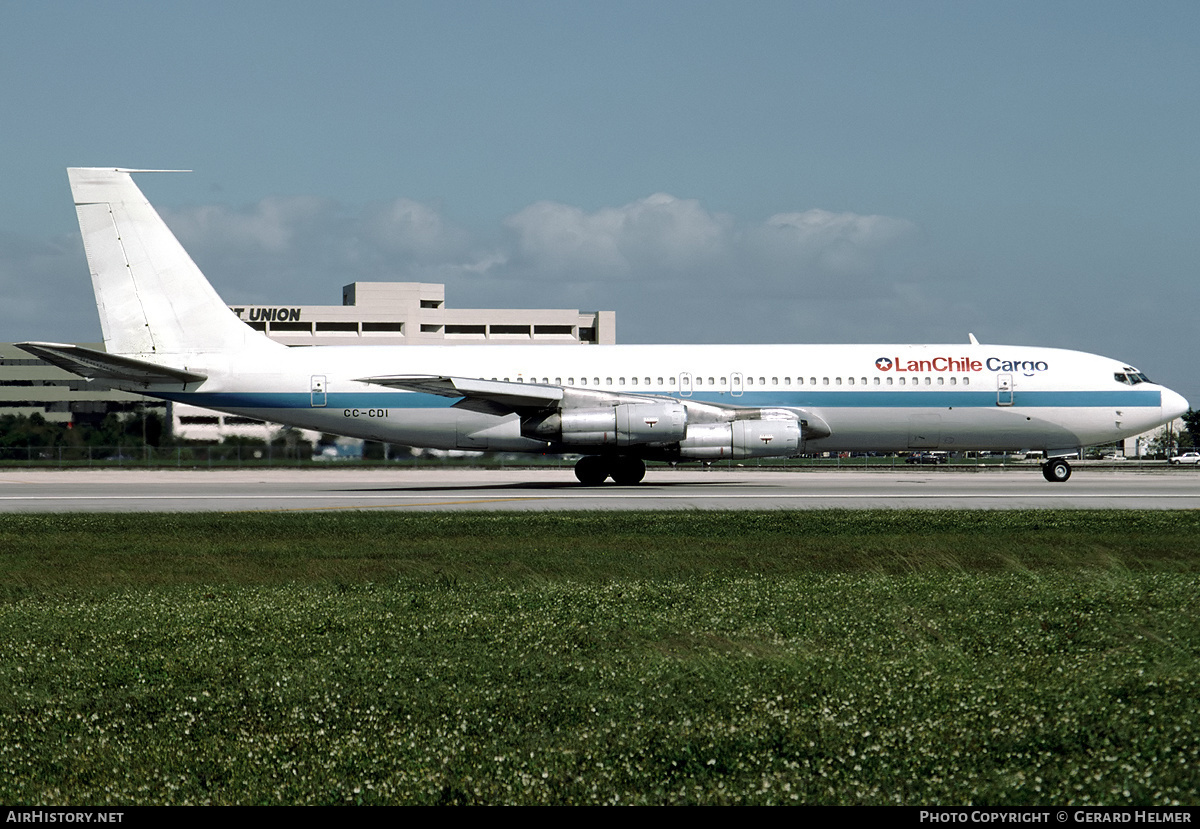
[[0,0],[0,341],[100,338],[66,167],[230,304],[1050,346],[1200,407],[1200,4]]

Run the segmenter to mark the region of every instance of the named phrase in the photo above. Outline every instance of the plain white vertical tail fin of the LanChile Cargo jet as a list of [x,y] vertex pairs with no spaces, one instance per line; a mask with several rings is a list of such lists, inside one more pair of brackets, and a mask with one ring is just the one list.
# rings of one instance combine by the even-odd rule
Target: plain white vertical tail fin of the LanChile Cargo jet
[[104,348],[110,354],[204,354],[272,348],[204,278],[130,173],[67,169]]

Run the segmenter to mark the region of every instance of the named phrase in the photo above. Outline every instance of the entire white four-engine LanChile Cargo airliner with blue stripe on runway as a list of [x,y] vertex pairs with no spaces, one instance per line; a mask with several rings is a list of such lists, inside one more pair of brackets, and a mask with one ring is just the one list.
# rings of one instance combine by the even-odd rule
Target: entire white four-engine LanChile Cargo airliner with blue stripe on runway
[[271,422],[433,449],[564,452],[583,483],[646,459],[1081,446],[1183,414],[1116,360],[959,346],[288,348],[222,301],[128,170],[68,170],[106,352],[22,343],[80,377]]

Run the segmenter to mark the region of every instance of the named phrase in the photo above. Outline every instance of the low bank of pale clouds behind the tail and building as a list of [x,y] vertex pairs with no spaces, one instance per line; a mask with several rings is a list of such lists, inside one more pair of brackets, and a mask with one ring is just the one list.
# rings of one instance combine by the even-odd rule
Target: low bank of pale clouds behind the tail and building
[[[314,197],[162,212],[230,302],[328,305],[359,280],[444,282],[457,307],[616,310],[624,342],[845,340],[847,325],[934,314],[928,282],[894,264],[916,228],[888,216],[814,209],[742,222],[665,193],[594,211],[539,202],[490,235],[403,198],[356,212]],[[64,295],[40,292],[65,274],[72,305],[94,316],[77,242],[8,242],[10,307],[40,316],[38,296]],[[847,305],[858,318],[846,318]],[[54,323],[25,336],[71,336]]]

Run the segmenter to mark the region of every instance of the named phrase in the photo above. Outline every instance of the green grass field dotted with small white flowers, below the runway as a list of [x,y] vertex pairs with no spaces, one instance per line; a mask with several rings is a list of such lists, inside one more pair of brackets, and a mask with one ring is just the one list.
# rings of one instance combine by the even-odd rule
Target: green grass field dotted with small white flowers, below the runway
[[0,519],[0,803],[1200,803],[1200,515]]

